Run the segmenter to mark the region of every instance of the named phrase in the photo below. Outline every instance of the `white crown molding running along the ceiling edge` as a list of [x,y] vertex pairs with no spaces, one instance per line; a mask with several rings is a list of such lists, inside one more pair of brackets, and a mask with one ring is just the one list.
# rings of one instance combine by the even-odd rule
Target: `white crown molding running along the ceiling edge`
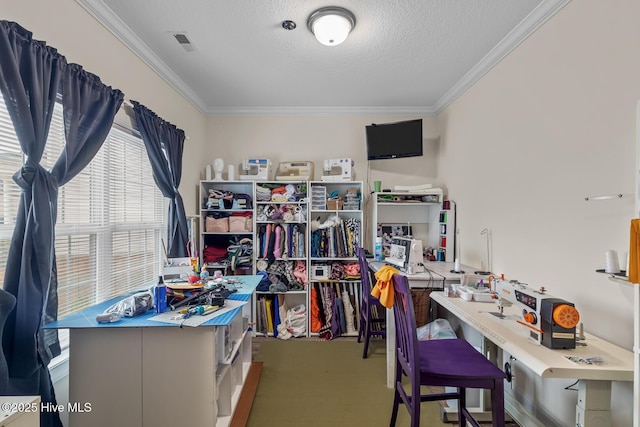
[[202,114],[210,116],[283,115],[399,115],[437,116],[482,76],[526,40],[571,0],[544,0],[522,22],[485,55],[433,106],[426,107],[264,107],[210,108],[171,70],[102,0],[76,0],[91,16],[136,54],[147,66],[184,96]]

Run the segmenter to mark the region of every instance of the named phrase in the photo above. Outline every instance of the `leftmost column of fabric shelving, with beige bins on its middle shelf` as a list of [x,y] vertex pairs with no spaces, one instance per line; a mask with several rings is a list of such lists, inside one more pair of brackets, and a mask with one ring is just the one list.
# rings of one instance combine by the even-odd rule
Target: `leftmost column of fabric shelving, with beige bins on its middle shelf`
[[253,193],[252,181],[200,181],[200,261],[210,274],[254,273]]

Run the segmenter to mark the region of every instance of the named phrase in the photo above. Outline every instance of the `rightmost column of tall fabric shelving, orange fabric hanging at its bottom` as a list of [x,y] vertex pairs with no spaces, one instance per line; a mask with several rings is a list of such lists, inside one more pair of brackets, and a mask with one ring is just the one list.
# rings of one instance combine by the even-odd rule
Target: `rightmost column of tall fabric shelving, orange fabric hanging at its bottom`
[[310,181],[309,333],[332,339],[358,335],[362,244],[362,182]]

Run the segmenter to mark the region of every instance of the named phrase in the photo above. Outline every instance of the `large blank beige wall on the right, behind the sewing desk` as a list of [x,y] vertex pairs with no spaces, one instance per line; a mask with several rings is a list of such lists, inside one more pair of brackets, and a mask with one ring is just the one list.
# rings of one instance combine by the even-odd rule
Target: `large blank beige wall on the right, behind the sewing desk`
[[[595,270],[607,249],[629,247],[639,15],[633,0],[572,1],[438,118],[438,179],[457,202],[463,261],[484,259],[490,228],[495,272],[574,302],[587,331],[629,350],[632,288]],[[572,419],[570,381],[521,380]],[[631,390],[615,384],[616,426],[631,425]]]

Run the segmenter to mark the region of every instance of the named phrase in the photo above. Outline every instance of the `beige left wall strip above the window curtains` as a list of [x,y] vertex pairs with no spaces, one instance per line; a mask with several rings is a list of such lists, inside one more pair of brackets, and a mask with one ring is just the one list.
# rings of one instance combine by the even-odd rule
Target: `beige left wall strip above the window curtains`
[[204,167],[205,117],[153,72],[74,0],[2,0],[0,18],[15,21],[36,40],[100,77],[163,119],[183,129],[185,141],[180,192],[187,215],[196,214],[196,183]]

